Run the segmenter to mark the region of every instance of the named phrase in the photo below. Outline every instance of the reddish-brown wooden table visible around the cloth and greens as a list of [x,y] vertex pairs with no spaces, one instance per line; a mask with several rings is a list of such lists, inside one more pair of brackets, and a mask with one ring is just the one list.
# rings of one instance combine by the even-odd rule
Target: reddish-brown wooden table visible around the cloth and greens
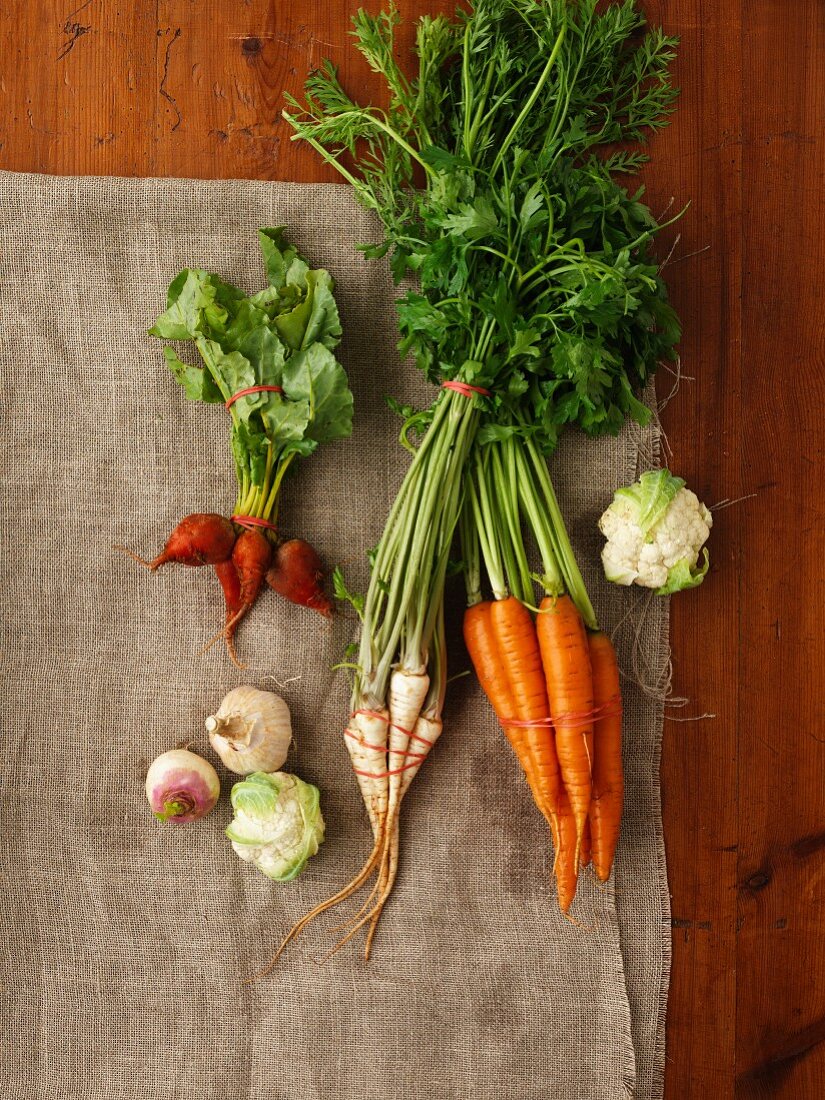
[[[349,0],[6,0],[0,166],[331,179],[282,91]],[[374,6],[371,6],[374,7]],[[406,0],[405,14],[437,10]],[[648,0],[682,37],[651,206],[691,208],[667,268],[684,322],[672,465],[715,514],[673,601],[662,791],[673,899],[667,1096],[825,1097],[823,91],[817,0]],[[667,376],[660,393],[667,393]],[[782,689],[788,688],[788,694]],[[685,721],[691,717],[697,721]]]

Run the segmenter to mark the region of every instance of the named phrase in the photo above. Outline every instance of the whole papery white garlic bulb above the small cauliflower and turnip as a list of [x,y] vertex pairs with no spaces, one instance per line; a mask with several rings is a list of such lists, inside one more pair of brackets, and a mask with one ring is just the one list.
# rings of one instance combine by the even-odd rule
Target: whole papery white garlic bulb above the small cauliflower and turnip
[[279,695],[233,688],[206,721],[212,748],[230,771],[278,771],[293,739],[289,707]]

